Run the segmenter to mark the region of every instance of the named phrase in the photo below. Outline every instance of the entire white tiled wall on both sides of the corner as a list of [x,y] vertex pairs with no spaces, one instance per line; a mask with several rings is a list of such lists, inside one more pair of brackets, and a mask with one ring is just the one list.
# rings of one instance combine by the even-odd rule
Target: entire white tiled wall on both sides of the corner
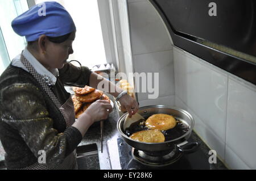
[[139,93],[140,106],[187,110],[195,132],[230,169],[256,169],[256,86],[172,46],[147,0],[128,0],[134,71],[159,72],[159,98]]

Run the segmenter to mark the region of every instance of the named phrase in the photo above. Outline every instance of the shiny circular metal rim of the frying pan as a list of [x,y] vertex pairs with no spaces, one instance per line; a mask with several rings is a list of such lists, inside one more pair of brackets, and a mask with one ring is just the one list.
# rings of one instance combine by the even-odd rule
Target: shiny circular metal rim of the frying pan
[[[161,144],[168,144],[168,143],[172,143],[172,142],[175,142],[175,141],[178,141],[180,140],[181,138],[184,138],[186,137],[188,134],[191,134],[192,132],[192,129],[195,125],[195,121],[193,119],[193,117],[191,116],[191,114],[181,108],[177,108],[177,107],[174,107],[174,106],[164,106],[164,105],[152,105],[152,106],[144,106],[144,107],[141,107],[139,108],[139,110],[144,110],[144,109],[147,109],[147,108],[168,108],[168,109],[172,109],[172,110],[176,110],[176,111],[180,111],[182,113],[184,113],[186,116],[189,117],[189,119],[191,120],[191,125],[190,125],[190,128],[189,128],[189,131],[187,131],[185,134],[183,134],[182,136],[174,139],[174,140],[170,140],[170,141],[164,141],[164,142],[159,142],[159,143],[154,143],[154,142],[141,142],[141,141],[136,141],[136,140],[133,140],[131,139],[130,137],[126,136],[125,133],[123,133],[122,131],[122,128],[121,128],[121,123],[122,121],[124,120],[124,117],[127,116],[127,112],[124,113],[117,121],[117,130],[118,132],[125,138],[127,138],[128,140],[130,141],[134,141],[134,142],[138,142],[139,144],[146,144],[146,145],[161,145]],[[143,116],[143,115],[142,115]]]

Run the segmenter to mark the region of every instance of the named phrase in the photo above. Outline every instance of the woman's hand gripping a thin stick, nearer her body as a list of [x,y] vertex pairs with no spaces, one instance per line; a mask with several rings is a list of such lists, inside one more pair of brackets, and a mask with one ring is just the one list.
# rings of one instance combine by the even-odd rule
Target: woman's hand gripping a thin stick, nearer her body
[[92,103],[84,113],[89,115],[93,123],[96,121],[108,119],[109,113],[113,111],[113,108],[108,100],[97,100]]

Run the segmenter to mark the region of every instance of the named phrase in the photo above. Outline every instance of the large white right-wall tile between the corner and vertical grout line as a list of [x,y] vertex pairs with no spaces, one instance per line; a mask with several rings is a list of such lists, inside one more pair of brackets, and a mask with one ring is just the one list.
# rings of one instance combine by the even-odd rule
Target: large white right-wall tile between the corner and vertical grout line
[[[225,142],[228,76],[174,48],[175,93]],[[222,155],[222,158],[224,155]]]

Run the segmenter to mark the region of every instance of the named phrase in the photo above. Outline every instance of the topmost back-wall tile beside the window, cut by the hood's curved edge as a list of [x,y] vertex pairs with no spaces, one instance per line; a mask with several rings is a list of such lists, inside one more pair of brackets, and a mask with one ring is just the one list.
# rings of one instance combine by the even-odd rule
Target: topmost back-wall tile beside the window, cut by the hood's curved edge
[[166,27],[150,2],[130,2],[129,18],[133,54],[172,49]]

